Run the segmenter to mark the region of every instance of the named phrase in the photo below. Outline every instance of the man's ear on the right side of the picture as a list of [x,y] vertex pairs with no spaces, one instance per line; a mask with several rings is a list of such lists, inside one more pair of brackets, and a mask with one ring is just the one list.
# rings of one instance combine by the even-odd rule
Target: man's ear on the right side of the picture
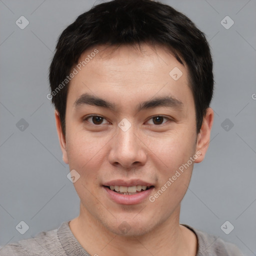
[[201,162],[207,151],[210,142],[210,130],[213,123],[213,116],[214,113],[212,108],[208,107],[202,121],[200,132],[197,135],[196,152],[199,151],[200,155],[194,162]]

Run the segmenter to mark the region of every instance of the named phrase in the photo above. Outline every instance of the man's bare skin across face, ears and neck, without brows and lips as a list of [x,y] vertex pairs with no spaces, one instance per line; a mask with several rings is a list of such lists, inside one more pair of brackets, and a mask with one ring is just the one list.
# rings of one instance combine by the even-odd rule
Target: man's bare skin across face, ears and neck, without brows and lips
[[[91,255],[195,255],[195,234],[179,224],[180,202],[193,163],[154,202],[146,198],[134,205],[115,203],[102,184],[139,178],[154,185],[153,195],[197,151],[201,155],[194,162],[203,160],[213,110],[207,109],[196,134],[188,70],[166,48],[146,43],[142,52],[126,45],[96,48],[99,53],[70,81],[65,136],[55,111],[63,160],[80,174],[74,182],[80,213],[69,222],[70,229]],[[80,59],[92,51],[87,50]],[[183,73],[176,81],[169,75],[174,67]],[[114,103],[116,110],[85,104],[75,108],[75,100],[83,93]],[[181,101],[183,107],[136,110],[138,103],[166,95]],[[85,118],[91,114],[103,117],[102,123]],[[154,124],[152,117],[158,115],[170,119]],[[131,123],[125,132],[118,127],[123,118]],[[123,221],[130,228],[125,234],[118,228]]]

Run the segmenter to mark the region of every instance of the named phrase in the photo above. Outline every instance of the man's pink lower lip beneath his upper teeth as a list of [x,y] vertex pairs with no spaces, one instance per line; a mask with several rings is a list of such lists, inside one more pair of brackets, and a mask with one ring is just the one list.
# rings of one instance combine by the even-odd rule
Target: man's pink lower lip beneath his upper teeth
[[152,192],[153,186],[147,190],[143,190],[142,192],[136,194],[119,194],[114,192],[113,190],[103,186],[105,191],[111,200],[119,204],[138,204],[142,202],[145,198],[149,196]]

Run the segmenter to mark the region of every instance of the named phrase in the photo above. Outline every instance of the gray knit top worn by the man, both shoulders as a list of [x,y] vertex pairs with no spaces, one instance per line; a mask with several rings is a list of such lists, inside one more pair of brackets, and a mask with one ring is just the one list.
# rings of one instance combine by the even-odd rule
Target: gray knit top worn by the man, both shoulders
[[[1,246],[0,256],[90,256],[74,237],[68,222],[62,222],[57,229],[42,231],[34,238]],[[196,256],[243,256],[234,244],[188,225],[184,226],[197,236]],[[97,254],[100,256],[100,251]]]

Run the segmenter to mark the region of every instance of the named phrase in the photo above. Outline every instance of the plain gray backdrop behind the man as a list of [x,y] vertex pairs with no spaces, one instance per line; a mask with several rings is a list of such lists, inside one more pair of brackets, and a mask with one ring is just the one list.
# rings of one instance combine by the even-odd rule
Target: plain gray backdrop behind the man
[[[47,74],[60,32],[100,2],[0,0],[0,245],[56,228],[79,213],[46,98]],[[162,2],[205,32],[214,61],[211,142],[204,161],[194,165],[180,222],[256,255],[256,1]],[[24,29],[15,24],[21,15],[29,20]],[[234,21],[229,29],[220,23],[226,15]],[[16,126],[21,118],[28,123],[23,131]],[[29,226],[23,235],[15,229],[21,220]],[[220,228],[226,220],[234,226],[229,234]]]

